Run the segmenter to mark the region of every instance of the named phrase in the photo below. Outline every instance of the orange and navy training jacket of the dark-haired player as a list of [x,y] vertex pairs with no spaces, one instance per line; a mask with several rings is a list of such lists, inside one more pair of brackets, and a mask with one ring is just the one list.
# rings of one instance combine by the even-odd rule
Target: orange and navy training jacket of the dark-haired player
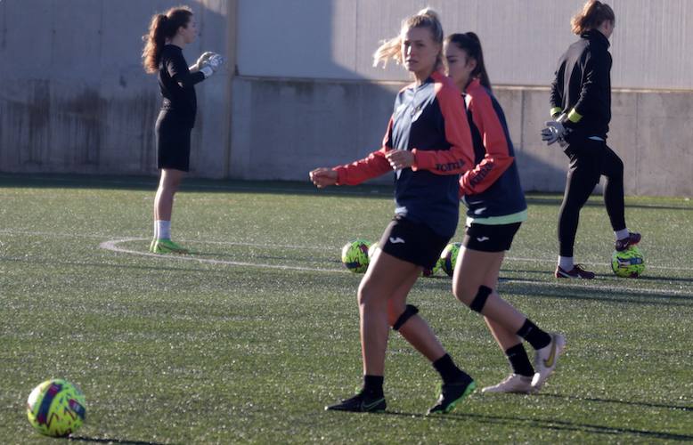
[[475,166],[460,179],[467,223],[510,224],[526,220],[525,193],[501,105],[478,79],[465,90]]

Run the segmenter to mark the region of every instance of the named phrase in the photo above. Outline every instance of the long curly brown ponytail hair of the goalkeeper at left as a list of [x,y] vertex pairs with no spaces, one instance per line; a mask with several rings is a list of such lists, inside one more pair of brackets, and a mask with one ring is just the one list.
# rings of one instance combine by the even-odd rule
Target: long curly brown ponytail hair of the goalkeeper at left
[[151,17],[149,32],[142,39],[144,49],[142,59],[144,70],[155,73],[159,70],[159,58],[161,49],[166,40],[175,36],[178,28],[187,27],[192,16],[192,10],[187,6],[178,6],[169,9],[166,14],[154,14]]

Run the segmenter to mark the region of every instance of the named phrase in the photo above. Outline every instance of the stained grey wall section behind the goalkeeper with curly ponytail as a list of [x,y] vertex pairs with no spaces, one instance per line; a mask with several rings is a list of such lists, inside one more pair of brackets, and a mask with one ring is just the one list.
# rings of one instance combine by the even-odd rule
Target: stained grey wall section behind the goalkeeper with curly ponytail
[[[155,174],[155,76],[142,68],[151,15],[171,1],[0,2],[0,171]],[[229,53],[233,2],[189,2],[202,36],[185,49]],[[135,20],[134,20],[135,19]],[[228,71],[198,88],[214,109],[195,130],[197,173],[224,176],[231,91]]]

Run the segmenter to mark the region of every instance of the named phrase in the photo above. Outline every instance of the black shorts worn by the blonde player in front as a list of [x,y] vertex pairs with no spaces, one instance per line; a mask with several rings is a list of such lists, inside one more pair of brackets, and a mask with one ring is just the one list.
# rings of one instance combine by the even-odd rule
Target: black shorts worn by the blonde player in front
[[408,263],[433,269],[447,242],[427,225],[395,216],[379,241],[383,252]]

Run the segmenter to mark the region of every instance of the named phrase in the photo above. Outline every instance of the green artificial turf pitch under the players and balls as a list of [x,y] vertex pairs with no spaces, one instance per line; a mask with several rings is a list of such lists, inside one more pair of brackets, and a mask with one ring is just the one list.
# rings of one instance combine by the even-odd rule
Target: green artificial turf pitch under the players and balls
[[[0,175],[0,442],[55,442],[25,414],[51,377],[86,393],[75,434],[86,442],[693,441],[689,200],[626,198],[647,269],[618,279],[613,232],[591,198],[575,255],[598,277],[558,282],[560,196],[529,194],[499,290],[564,332],[566,354],[539,394],[477,390],[452,414],[424,417],[438,377],[396,334],[387,412],[323,410],[361,384],[361,275],[339,249],[379,239],[390,188],[186,180],[173,234],[198,253],[183,256],[147,253],[155,188],[153,178]],[[420,279],[410,303],[479,387],[508,374],[451,279]]]

